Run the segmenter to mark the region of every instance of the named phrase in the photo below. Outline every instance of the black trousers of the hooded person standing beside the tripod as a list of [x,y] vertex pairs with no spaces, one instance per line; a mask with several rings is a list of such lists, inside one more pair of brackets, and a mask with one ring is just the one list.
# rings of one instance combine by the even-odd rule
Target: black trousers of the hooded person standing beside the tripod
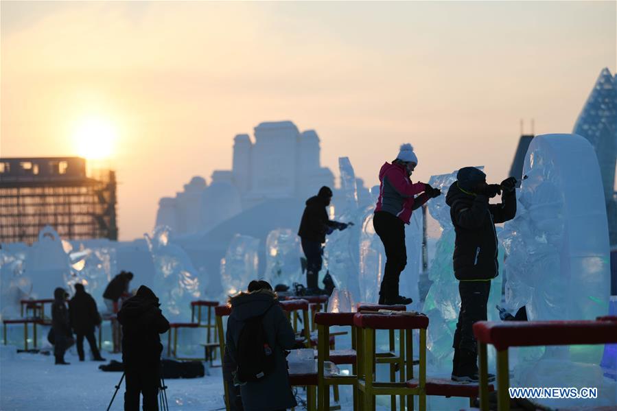
[[143,411],[159,411],[161,371],[156,367],[124,367],[124,411],[139,411],[139,396],[143,395]]

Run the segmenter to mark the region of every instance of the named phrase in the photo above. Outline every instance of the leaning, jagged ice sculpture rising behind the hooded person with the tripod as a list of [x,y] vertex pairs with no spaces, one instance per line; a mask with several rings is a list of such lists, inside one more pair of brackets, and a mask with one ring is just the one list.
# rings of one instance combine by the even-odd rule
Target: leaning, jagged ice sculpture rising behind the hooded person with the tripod
[[170,320],[186,319],[191,315],[191,301],[201,296],[200,283],[191,259],[185,251],[170,242],[171,230],[166,226],[154,228],[152,237],[144,235],[154,263],[154,294],[161,309]]

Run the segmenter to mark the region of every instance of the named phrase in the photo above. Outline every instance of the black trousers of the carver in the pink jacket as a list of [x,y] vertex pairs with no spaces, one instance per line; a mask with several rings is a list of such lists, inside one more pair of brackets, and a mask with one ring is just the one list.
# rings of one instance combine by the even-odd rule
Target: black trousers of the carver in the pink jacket
[[386,268],[380,294],[398,296],[399,277],[407,265],[405,223],[396,215],[386,211],[377,211],[373,217],[373,228],[386,250]]

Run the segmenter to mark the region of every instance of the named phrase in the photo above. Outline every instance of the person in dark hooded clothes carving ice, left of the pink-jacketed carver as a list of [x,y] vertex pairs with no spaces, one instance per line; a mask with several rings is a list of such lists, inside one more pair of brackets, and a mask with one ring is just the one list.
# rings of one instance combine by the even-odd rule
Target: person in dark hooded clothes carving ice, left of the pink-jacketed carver
[[325,294],[318,287],[318,276],[323,263],[325,235],[334,230],[345,230],[349,224],[332,221],[328,218],[326,207],[332,200],[332,190],[323,186],[316,196],[306,200],[298,235],[306,257],[306,294]]

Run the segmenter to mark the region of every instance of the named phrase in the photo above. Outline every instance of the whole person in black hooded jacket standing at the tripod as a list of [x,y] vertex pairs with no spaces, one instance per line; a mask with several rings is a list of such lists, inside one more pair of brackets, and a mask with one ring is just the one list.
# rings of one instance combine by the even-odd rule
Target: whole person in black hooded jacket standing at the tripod
[[143,395],[143,410],[159,410],[157,395],[161,381],[159,334],[170,329],[170,323],[159,309],[159,298],[145,285],[124,302],[118,312],[122,325],[122,362],[126,379],[124,410],[139,410],[139,395]]

